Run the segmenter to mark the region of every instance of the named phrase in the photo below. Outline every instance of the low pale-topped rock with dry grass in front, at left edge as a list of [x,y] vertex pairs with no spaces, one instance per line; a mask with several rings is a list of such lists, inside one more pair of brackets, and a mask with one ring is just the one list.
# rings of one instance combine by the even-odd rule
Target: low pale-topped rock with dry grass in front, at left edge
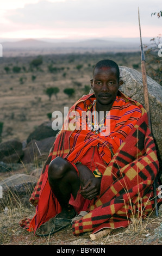
[[29,206],[29,198],[38,179],[27,174],[15,174],[0,182],[2,196],[0,198],[0,210],[17,205]]

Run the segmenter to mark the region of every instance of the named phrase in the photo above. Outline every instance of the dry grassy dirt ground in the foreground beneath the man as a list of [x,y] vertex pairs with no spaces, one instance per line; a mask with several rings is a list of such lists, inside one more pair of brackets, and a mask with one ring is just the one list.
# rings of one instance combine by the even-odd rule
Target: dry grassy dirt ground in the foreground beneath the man
[[[161,208],[160,208],[161,209]],[[162,209],[161,209],[162,210]],[[90,234],[80,236],[72,234],[71,225],[51,236],[37,237],[20,227],[19,221],[24,217],[33,217],[34,208],[13,209],[1,212],[0,245],[55,245],[55,246],[107,246],[107,245],[162,245],[159,216],[153,214],[142,222],[142,225],[130,223],[127,228],[119,228],[108,235],[91,240]]]

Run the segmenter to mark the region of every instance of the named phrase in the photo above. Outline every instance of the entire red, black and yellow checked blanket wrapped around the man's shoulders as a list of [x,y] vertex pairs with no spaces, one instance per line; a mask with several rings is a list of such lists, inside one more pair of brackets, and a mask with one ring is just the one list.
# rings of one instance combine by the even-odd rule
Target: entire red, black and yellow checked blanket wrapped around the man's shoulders
[[[147,114],[139,102],[130,99],[121,92],[119,92],[119,95],[126,102],[131,101],[134,105],[140,107],[142,115],[116,151],[108,167],[105,168],[102,176],[101,192],[97,198],[91,200],[88,214],[79,221],[74,222],[72,226],[74,235],[82,234],[86,231],[95,233],[105,227],[127,227],[132,216],[139,216],[140,214],[146,216],[154,208],[152,184],[158,173],[159,163],[155,144],[148,129]],[[86,95],[80,100],[85,101],[90,96]],[[80,100],[76,102],[70,111],[75,109]],[[43,214],[43,211],[48,207],[50,200],[53,200],[54,206],[48,211],[51,211],[53,216],[61,211],[60,205],[55,200],[52,192],[49,192],[47,171],[49,163],[55,157],[66,158],[68,155],[71,133],[72,131],[70,130],[65,132],[63,127],[42,169],[38,183],[30,197],[30,202],[36,206],[36,215],[30,222],[29,231],[36,230],[40,224],[48,221],[48,213]],[[45,192],[46,190],[49,193],[49,199],[42,198],[42,206],[39,199],[42,191]],[[40,214],[41,219],[39,218]],[[20,225],[27,227],[26,221],[23,221]]]

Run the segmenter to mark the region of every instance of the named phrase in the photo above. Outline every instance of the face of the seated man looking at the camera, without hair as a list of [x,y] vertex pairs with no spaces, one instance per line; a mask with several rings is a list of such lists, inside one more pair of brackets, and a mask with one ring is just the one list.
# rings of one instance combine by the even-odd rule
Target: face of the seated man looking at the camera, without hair
[[99,107],[102,105],[112,106],[119,89],[119,80],[115,68],[101,68],[94,72],[91,87],[94,89]]

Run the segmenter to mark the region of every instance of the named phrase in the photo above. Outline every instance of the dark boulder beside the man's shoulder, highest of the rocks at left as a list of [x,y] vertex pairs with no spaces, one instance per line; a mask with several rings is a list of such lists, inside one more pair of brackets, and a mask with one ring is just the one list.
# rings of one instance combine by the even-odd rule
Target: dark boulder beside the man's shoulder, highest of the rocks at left
[[33,139],[36,139],[36,141],[41,141],[42,139],[54,137],[57,135],[58,130],[54,131],[52,129],[52,122],[46,121],[39,125],[27,138],[27,144],[29,142],[32,142]]

